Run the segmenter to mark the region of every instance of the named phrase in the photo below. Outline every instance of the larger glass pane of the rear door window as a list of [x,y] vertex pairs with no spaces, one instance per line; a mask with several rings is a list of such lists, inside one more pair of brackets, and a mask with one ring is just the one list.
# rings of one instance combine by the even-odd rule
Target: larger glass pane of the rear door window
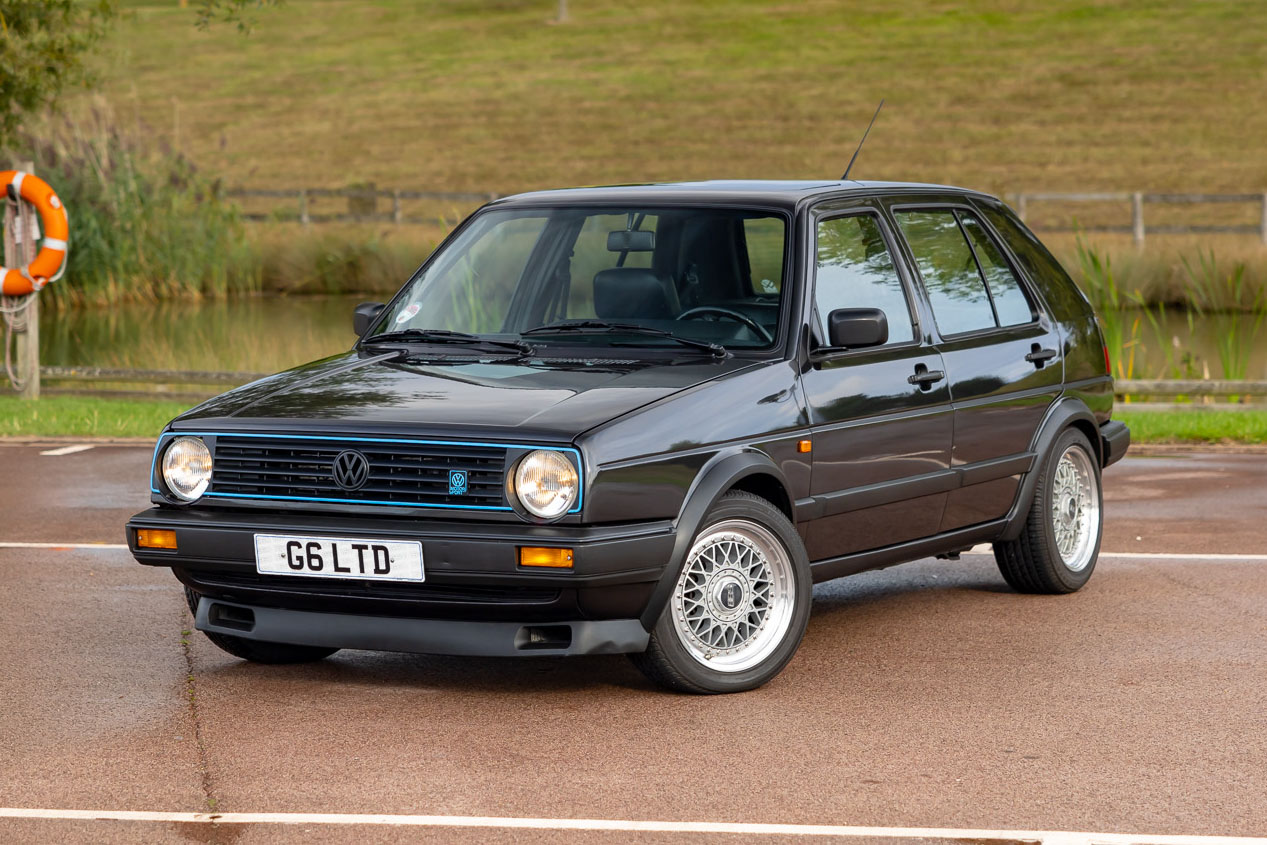
[[995,328],[986,281],[952,210],[898,212],[897,224],[929,291],[943,334]]

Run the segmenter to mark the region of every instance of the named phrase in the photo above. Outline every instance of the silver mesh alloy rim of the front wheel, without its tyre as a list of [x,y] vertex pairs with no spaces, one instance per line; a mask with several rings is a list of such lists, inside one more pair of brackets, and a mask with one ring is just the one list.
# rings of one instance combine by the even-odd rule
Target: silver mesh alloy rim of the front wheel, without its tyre
[[699,664],[736,673],[758,665],[792,625],[792,559],[763,526],[727,519],[701,535],[673,592],[673,628]]

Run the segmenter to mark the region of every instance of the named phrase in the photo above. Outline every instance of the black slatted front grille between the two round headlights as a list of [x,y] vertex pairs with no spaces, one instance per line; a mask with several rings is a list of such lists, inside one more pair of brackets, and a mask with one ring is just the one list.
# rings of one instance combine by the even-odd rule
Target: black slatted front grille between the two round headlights
[[[364,485],[334,483],[334,459],[356,451],[369,462]],[[209,495],[364,502],[407,507],[506,509],[506,447],[359,438],[215,438]],[[465,493],[450,473],[465,473]]]

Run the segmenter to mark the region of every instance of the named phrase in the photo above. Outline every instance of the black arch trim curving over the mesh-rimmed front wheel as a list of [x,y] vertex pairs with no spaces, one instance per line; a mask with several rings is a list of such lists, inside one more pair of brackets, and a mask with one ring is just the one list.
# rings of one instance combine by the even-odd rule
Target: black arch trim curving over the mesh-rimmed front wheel
[[[659,583],[656,583],[655,589],[651,592],[646,609],[642,611],[641,622],[642,627],[647,631],[655,627],[656,619],[664,612],[669,595],[673,593],[673,585],[677,584],[678,576],[682,574],[682,566],[687,561],[691,543],[694,542],[696,533],[699,531],[699,526],[703,524],[704,517],[708,516],[708,511],[731,488],[753,475],[772,475],[783,486],[787,500],[794,502],[788,495],[789,485],[787,478],[783,475],[783,470],[765,452],[751,447],[729,450],[718,452],[712,460],[704,464],[699,473],[696,474],[696,480],[687,492],[685,503],[674,521],[675,538],[673,542],[673,554],[669,556]],[[777,502],[772,502],[772,504],[779,508]],[[782,512],[782,508],[779,511]],[[794,522],[796,517],[788,514],[788,519]]]

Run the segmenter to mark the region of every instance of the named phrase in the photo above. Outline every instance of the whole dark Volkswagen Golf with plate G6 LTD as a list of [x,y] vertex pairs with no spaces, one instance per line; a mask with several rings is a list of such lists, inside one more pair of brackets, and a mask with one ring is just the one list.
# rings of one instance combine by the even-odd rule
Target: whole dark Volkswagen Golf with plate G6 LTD
[[232,655],[626,652],[751,689],[816,581],[993,543],[1015,589],[1081,588],[1130,441],[1087,300],[954,187],[512,196],[353,322],[155,448],[128,543]]

